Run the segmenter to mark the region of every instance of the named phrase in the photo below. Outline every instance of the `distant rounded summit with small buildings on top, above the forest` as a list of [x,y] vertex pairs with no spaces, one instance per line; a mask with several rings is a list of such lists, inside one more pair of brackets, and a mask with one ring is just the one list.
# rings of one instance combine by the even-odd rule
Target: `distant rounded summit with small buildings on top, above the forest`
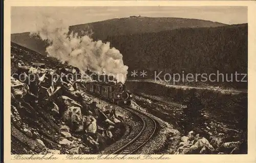
[[108,36],[160,32],[179,28],[219,27],[224,25],[208,20],[176,17],[129,17],[71,26],[70,31],[78,32],[81,35],[82,30],[90,28],[94,32],[94,39],[104,40]]

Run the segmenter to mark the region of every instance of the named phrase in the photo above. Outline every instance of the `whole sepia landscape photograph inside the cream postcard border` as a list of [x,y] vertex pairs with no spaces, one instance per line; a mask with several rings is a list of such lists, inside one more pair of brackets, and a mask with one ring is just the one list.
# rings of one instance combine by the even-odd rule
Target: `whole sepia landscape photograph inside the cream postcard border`
[[12,6],[11,154],[248,154],[247,14]]

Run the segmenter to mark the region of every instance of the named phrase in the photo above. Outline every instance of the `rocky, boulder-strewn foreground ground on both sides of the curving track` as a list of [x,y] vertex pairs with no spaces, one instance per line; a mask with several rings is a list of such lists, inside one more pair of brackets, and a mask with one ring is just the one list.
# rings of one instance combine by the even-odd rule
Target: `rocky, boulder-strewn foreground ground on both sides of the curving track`
[[[30,67],[31,62],[44,62],[46,68]],[[22,75],[25,80],[16,75],[11,77],[11,154],[102,154],[109,152],[108,149],[120,148],[122,138],[127,138],[123,134],[130,131],[134,136],[129,126],[138,124],[137,117],[84,92],[83,84],[91,81],[89,76],[76,80],[71,87],[59,79],[53,82],[54,74],[60,75],[58,67],[65,67],[69,73],[72,73],[72,67],[12,42],[11,63],[12,74],[28,73],[27,77]],[[29,80],[33,76],[37,77]],[[247,94],[222,95],[214,91],[166,88],[144,82],[128,82],[126,85],[137,92],[131,108],[148,111],[146,114],[159,124],[157,133],[144,145],[144,151],[140,149],[142,154],[247,153]],[[146,99],[137,96],[138,92],[150,97],[158,95],[160,99],[166,95],[173,101]],[[191,111],[180,107],[180,103],[188,108],[191,104],[197,107],[193,109],[193,117]],[[192,118],[195,121],[191,121]],[[183,138],[190,135],[190,140],[196,143],[183,145],[184,139],[174,128],[182,131]],[[119,144],[115,144],[117,140]],[[211,147],[210,151],[204,150],[205,146]]]

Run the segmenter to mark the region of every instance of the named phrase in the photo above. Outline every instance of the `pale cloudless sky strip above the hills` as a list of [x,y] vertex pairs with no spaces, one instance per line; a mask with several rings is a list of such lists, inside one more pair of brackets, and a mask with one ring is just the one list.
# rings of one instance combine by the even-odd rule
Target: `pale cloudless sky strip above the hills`
[[247,7],[243,6],[12,7],[11,33],[34,31],[42,15],[63,19],[69,26],[131,15],[195,18],[228,25],[247,23]]

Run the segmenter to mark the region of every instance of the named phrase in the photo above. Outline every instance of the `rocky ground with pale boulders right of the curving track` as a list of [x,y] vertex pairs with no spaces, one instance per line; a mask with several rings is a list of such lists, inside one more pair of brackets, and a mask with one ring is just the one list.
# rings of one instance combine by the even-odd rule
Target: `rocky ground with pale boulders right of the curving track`
[[160,150],[164,154],[247,153],[247,131],[218,120],[207,110],[198,111],[200,115],[191,121],[184,106],[161,97],[143,94],[135,96],[134,100],[137,107],[145,108],[144,111],[173,124],[180,131],[178,137],[169,137],[169,143],[167,139],[167,145]]

